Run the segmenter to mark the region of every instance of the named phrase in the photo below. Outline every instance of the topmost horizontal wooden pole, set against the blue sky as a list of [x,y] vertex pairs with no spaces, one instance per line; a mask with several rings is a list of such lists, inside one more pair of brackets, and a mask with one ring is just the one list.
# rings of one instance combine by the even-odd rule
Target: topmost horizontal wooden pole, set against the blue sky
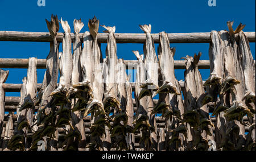
[[[144,43],[146,34],[138,33],[115,33],[117,43]],[[255,32],[245,32],[250,42],[255,42]],[[57,33],[57,41],[63,40],[64,34]],[[82,39],[82,33],[80,33]],[[98,43],[107,43],[108,34],[99,33]],[[159,34],[152,34],[155,43],[159,43]],[[170,43],[210,43],[210,32],[192,32],[192,33],[169,33]],[[75,35],[71,33],[71,38]],[[0,41],[43,41],[50,42],[52,38],[49,32],[23,32],[23,31],[0,31]]]

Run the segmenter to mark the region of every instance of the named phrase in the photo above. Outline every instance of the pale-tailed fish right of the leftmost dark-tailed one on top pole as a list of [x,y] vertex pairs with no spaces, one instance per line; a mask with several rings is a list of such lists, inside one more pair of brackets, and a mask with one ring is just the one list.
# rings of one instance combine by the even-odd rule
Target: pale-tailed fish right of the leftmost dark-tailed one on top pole
[[55,96],[55,101],[57,102],[69,102],[69,87],[71,86],[71,75],[73,67],[73,58],[71,52],[71,29],[69,27],[68,21],[63,21],[60,19],[61,26],[65,32],[63,36],[63,53],[60,56],[60,82],[59,86],[51,93]]

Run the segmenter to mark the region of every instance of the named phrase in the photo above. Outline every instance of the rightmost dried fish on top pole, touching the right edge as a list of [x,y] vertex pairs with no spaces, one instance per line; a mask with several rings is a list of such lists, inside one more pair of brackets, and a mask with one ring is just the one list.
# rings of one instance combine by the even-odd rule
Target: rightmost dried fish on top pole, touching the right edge
[[255,64],[251,55],[249,41],[243,31],[238,34],[240,54],[242,55],[241,66],[245,75],[245,99],[246,103],[254,103],[255,111]]

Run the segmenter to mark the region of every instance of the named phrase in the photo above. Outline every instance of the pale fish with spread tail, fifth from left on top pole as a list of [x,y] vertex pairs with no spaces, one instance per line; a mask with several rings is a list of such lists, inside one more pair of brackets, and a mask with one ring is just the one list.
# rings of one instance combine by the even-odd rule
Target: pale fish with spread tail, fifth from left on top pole
[[104,32],[108,33],[108,45],[106,47],[106,73],[104,73],[104,83],[105,83],[105,97],[104,97],[104,109],[109,107],[116,107],[117,111],[120,112],[120,103],[117,98],[117,42],[115,41],[115,26],[106,27],[102,26],[106,30]]

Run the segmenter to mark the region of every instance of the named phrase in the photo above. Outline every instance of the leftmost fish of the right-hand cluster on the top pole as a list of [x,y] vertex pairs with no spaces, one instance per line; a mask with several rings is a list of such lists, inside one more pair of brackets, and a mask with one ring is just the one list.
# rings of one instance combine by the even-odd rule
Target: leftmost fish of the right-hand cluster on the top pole
[[209,52],[210,57],[210,77],[205,81],[204,86],[221,84],[222,76],[224,74],[224,51],[221,46],[221,38],[217,31],[210,32],[210,38],[212,43],[210,43]]

